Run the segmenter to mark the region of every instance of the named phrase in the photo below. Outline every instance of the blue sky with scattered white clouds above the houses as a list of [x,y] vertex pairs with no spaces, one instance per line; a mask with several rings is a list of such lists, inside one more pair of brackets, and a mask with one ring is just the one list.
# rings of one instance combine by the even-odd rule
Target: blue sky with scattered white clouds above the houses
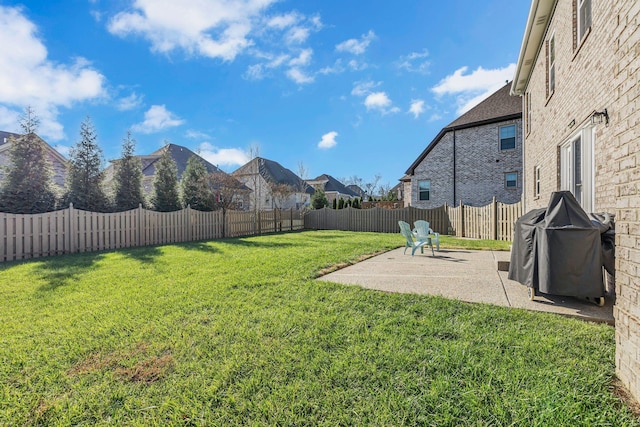
[[250,147],[307,178],[395,185],[440,129],[511,80],[525,0],[0,0],[0,130],[24,108],[63,154],[90,115],[223,170]]

